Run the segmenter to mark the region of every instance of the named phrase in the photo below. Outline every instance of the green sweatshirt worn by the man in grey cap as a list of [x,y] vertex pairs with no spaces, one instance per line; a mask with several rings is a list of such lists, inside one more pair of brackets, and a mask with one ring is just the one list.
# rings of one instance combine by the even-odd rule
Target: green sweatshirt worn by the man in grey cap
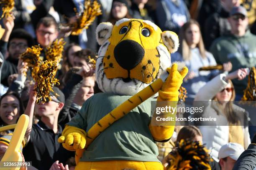
[[[210,47],[210,52],[219,64],[230,61],[232,70],[256,66],[256,36],[247,31],[242,37],[235,35],[223,36],[215,40]],[[244,80],[232,80],[236,92],[243,94],[246,89],[248,76]]]

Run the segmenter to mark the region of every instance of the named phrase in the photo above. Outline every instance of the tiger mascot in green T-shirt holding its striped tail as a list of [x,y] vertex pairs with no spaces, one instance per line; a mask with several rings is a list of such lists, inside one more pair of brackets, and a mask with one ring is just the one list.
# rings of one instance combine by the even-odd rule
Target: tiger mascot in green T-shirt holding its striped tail
[[184,65],[171,66],[178,36],[150,21],[127,18],[101,23],[96,36],[102,93],[84,102],[59,142],[76,151],[75,170],[163,170],[155,142],[169,140],[174,125],[152,123],[151,101],[158,96],[157,101],[177,104],[188,72]]

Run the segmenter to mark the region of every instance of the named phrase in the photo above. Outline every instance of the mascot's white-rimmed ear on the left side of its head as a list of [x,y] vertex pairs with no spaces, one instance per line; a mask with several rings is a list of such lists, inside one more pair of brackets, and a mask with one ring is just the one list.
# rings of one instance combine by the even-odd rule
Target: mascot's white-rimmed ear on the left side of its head
[[111,23],[100,23],[96,28],[96,38],[99,45],[102,45],[111,35],[113,25]]

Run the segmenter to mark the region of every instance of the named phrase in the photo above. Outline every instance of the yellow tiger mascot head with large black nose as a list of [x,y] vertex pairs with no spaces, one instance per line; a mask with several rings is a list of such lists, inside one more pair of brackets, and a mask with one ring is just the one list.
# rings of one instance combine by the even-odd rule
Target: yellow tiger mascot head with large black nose
[[171,65],[178,36],[162,32],[147,20],[127,19],[101,23],[96,29],[101,45],[96,62],[97,83],[103,92],[134,95],[158,79]]

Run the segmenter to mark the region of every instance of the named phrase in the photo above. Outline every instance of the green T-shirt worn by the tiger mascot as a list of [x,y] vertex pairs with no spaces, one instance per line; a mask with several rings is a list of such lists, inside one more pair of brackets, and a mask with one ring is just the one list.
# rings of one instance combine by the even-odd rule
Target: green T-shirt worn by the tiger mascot
[[[131,96],[97,93],[84,102],[67,125],[86,132],[102,117]],[[159,162],[158,148],[148,129],[151,121],[149,98],[104,130],[84,151],[81,161],[134,160]]]

